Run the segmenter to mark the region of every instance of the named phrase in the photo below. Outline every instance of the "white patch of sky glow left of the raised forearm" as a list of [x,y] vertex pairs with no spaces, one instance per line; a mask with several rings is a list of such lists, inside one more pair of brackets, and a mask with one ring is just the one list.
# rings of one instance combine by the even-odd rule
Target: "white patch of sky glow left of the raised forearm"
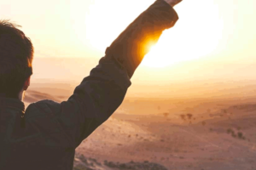
[[[84,31],[81,39],[84,42],[90,41],[92,48],[104,53],[114,39],[152,3],[154,0],[148,2],[94,0],[90,4],[86,16],[86,31]],[[110,6],[109,4],[114,5]]]

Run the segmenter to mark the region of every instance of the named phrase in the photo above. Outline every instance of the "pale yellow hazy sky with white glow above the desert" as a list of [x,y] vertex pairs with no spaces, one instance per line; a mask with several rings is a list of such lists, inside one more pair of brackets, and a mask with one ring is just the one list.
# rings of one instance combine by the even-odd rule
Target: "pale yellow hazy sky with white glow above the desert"
[[[0,0],[0,16],[22,26],[32,39],[36,58],[98,60],[119,33],[152,3],[154,0]],[[134,79],[155,82],[168,77],[222,74],[253,78],[255,8],[255,0],[183,0],[175,7],[179,15],[176,26],[163,33]]]

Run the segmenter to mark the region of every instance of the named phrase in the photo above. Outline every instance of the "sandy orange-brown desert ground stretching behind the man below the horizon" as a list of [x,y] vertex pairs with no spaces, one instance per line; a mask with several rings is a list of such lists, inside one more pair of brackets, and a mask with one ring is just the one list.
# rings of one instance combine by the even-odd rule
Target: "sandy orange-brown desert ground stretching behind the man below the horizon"
[[[25,104],[73,93],[34,85]],[[39,93],[40,91],[40,93]],[[74,169],[255,170],[256,98],[125,98],[76,150]]]

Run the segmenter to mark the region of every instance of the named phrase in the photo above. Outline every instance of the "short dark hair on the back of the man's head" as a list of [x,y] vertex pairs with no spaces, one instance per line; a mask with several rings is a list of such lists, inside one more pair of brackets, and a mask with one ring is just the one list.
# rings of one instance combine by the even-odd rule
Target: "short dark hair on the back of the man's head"
[[18,98],[32,75],[33,46],[18,25],[0,20],[0,96]]

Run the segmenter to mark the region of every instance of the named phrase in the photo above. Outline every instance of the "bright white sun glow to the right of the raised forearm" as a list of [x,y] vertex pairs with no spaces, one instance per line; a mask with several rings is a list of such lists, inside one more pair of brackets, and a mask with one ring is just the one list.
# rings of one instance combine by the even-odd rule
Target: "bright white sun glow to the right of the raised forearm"
[[[207,15],[195,11],[193,17],[197,20],[188,17],[186,20],[178,20],[176,26],[163,32],[159,42],[143,59],[142,65],[160,68],[216,53],[224,24],[218,17],[218,6],[204,3]],[[179,13],[185,13],[188,8],[189,5],[183,7]]]

